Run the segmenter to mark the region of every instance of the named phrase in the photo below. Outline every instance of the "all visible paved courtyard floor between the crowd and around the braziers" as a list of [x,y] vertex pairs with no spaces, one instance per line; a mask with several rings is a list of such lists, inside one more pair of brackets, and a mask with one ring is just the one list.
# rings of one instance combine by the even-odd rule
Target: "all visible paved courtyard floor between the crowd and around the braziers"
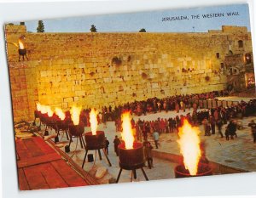
[[[179,114],[186,115],[189,111],[186,110],[185,113],[180,112]],[[142,120],[156,120],[158,117],[160,118],[169,118],[176,116],[176,112],[169,111],[160,112],[156,114],[150,114],[147,116],[134,116],[134,119],[137,121],[138,118]],[[250,127],[247,127],[248,122],[251,120],[256,121],[256,116],[245,117],[242,120],[237,120],[237,122],[242,123],[242,129],[237,130],[237,138],[230,139],[227,141],[225,138],[221,139],[218,134],[218,130],[216,128],[216,134],[211,136],[204,136],[203,127],[199,126],[201,129],[200,138],[201,141],[205,141],[206,150],[207,150],[207,158],[209,161],[213,161],[228,167],[238,168],[248,172],[256,171],[256,144],[253,144],[253,138],[251,135]],[[223,126],[223,133],[226,125]],[[98,167],[107,167],[108,173],[101,179],[99,182],[101,184],[108,184],[109,178],[117,178],[119,173],[119,158],[115,155],[113,151],[113,139],[115,135],[119,137],[121,134],[116,132],[114,122],[107,122],[106,125],[99,125],[98,130],[102,130],[105,132],[106,137],[108,138],[109,144],[109,159],[112,163],[112,167],[108,167],[108,161],[102,153],[102,161],[99,160],[99,157],[96,155],[94,151],[89,151],[89,154],[93,154],[94,158],[96,158],[96,162],[87,162],[84,165],[84,170],[89,172],[92,176],[95,175],[96,169]],[[90,131],[90,127],[85,127],[85,133]],[[55,132],[51,132],[55,133]],[[61,143],[68,144],[66,136],[64,135],[60,139]],[[71,144],[71,152],[68,153],[68,156],[72,156],[73,161],[82,166],[84,159],[84,149],[80,147],[80,143],[77,146],[77,152],[73,153],[76,147],[76,139],[73,139],[73,143]],[[64,147],[61,148],[64,150]],[[156,149],[154,149],[156,150]],[[160,134],[160,148],[156,151],[165,152],[175,155],[180,155],[179,147],[177,145],[177,133],[162,133]],[[87,159],[86,159],[87,160]],[[174,178],[173,169],[176,166],[176,163],[171,161],[166,161],[162,159],[154,158],[154,168],[149,169],[148,167],[144,167],[145,172],[148,175],[149,180],[155,179],[166,179],[166,178]],[[133,179],[133,181],[144,181],[143,173],[141,170],[137,170],[137,179]],[[123,170],[121,177],[119,179],[119,183],[122,182],[130,182],[131,181],[131,171]]]

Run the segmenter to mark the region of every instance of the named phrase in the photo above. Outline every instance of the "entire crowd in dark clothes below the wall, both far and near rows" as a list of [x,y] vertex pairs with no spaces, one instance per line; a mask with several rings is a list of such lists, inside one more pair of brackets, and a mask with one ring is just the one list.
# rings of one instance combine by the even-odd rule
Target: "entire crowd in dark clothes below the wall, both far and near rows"
[[[125,105],[119,105],[114,108],[105,106],[102,108],[102,112],[98,114],[98,122],[106,123],[107,121],[114,121],[116,131],[122,131],[121,114],[124,111],[130,111],[133,116],[148,115],[151,113],[160,112],[162,110],[176,111],[181,110],[185,112],[187,109],[192,111],[186,115],[173,116],[169,118],[158,118],[155,121],[144,121],[138,119],[137,122],[134,119],[131,120],[131,125],[134,128],[134,136],[137,140],[147,141],[148,136],[153,136],[154,133],[177,133],[178,127],[181,127],[183,120],[186,119],[193,126],[203,125],[205,136],[210,136],[216,133],[216,128],[220,138],[227,140],[237,137],[236,128],[238,123],[236,122],[236,116],[251,116],[256,112],[256,99],[251,99],[248,102],[241,101],[239,103],[230,106],[218,106],[215,108],[200,109],[200,99],[216,99],[216,97],[227,96],[226,91],[210,92],[210,93],[197,93],[190,95],[177,95],[168,97],[166,99],[147,99],[144,101],[135,101],[133,103],[126,103]],[[90,109],[82,110],[80,115],[80,122],[83,122],[84,126],[90,126],[89,122]],[[223,132],[223,125],[228,124]],[[254,125],[253,125],[254,126]],[[253,129],[252,129],[253,130]],[[154,137],[154,136],[153,136]],[[158,137],[159,139],[159,137]],[[155,142],[155,147],[158,147],[158,139]],[[155,140],[155,139],[154,139]],[[256,142],[256,125],[255,125],[255,140]]]

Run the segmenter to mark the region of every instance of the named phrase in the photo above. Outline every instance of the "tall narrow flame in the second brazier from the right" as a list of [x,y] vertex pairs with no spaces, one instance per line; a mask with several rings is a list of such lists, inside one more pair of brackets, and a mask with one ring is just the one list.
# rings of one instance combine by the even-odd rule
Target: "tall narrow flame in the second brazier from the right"
[[130,112],[125,112],[122,114],[122,122],[122,139],[125,141],[125,149],[131,150],[133,148],[134,137],[131,128]]

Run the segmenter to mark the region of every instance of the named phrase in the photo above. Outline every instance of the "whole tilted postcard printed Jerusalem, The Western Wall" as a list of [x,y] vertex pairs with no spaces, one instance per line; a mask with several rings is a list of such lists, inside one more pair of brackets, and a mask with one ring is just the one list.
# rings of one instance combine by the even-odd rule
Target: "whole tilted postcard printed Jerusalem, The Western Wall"
[[255,172],[247,4],[4,31],[20,190]]

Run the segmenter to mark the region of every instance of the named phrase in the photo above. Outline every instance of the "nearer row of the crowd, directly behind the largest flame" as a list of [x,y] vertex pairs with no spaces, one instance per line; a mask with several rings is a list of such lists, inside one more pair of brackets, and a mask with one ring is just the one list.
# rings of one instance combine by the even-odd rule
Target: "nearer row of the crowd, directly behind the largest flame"
[[[251,116],[256,112],[256,99],[248,102],[241,101],[237,105],[230,107],[216,107],[208,110],[194,109],[192,115],[188,113],[186,116],[175,116],[169,119],[158,118],[155,121],[138,120],[134,123],[136,129],[136,137],[139,140],[147,140],[149,134],[154,131],[158,133],[174,133],[178,127],[181,127],[183,120],[186,119],[193,126],[203,125],[205,136],[216,133],[216,128],[221,138],[227,140],[237,137],[236,128],[239,123],[236,122],[236,116]],[[133,121],[132,121],[133,123]],[[223,133],[223,125],[228,124]],[[256,131],[256,130],[255,130]],[[255,140],[256,141],[256,140]]]

